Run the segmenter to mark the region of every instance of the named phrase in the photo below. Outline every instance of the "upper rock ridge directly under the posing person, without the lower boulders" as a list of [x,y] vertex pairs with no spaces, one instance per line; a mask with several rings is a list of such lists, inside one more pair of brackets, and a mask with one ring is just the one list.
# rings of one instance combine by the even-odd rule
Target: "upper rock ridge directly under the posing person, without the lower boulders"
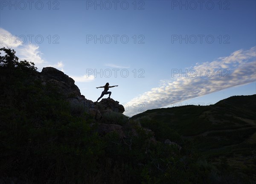
[[81,95],[79,88],[75,85],[75,81],[56,68],[43,68],[38,73],[38,78],[42,81],[43,85],[53,85],[57,93],[60,93],[64,100],[70,102],[70,105],[74,108],[84,108],[85,111],[97,120],[101,119],[102,115],[110,110],[117,113],[125,111],[124,107],[113,99],[102,99],[98,103],[86,99],[84,95]]

